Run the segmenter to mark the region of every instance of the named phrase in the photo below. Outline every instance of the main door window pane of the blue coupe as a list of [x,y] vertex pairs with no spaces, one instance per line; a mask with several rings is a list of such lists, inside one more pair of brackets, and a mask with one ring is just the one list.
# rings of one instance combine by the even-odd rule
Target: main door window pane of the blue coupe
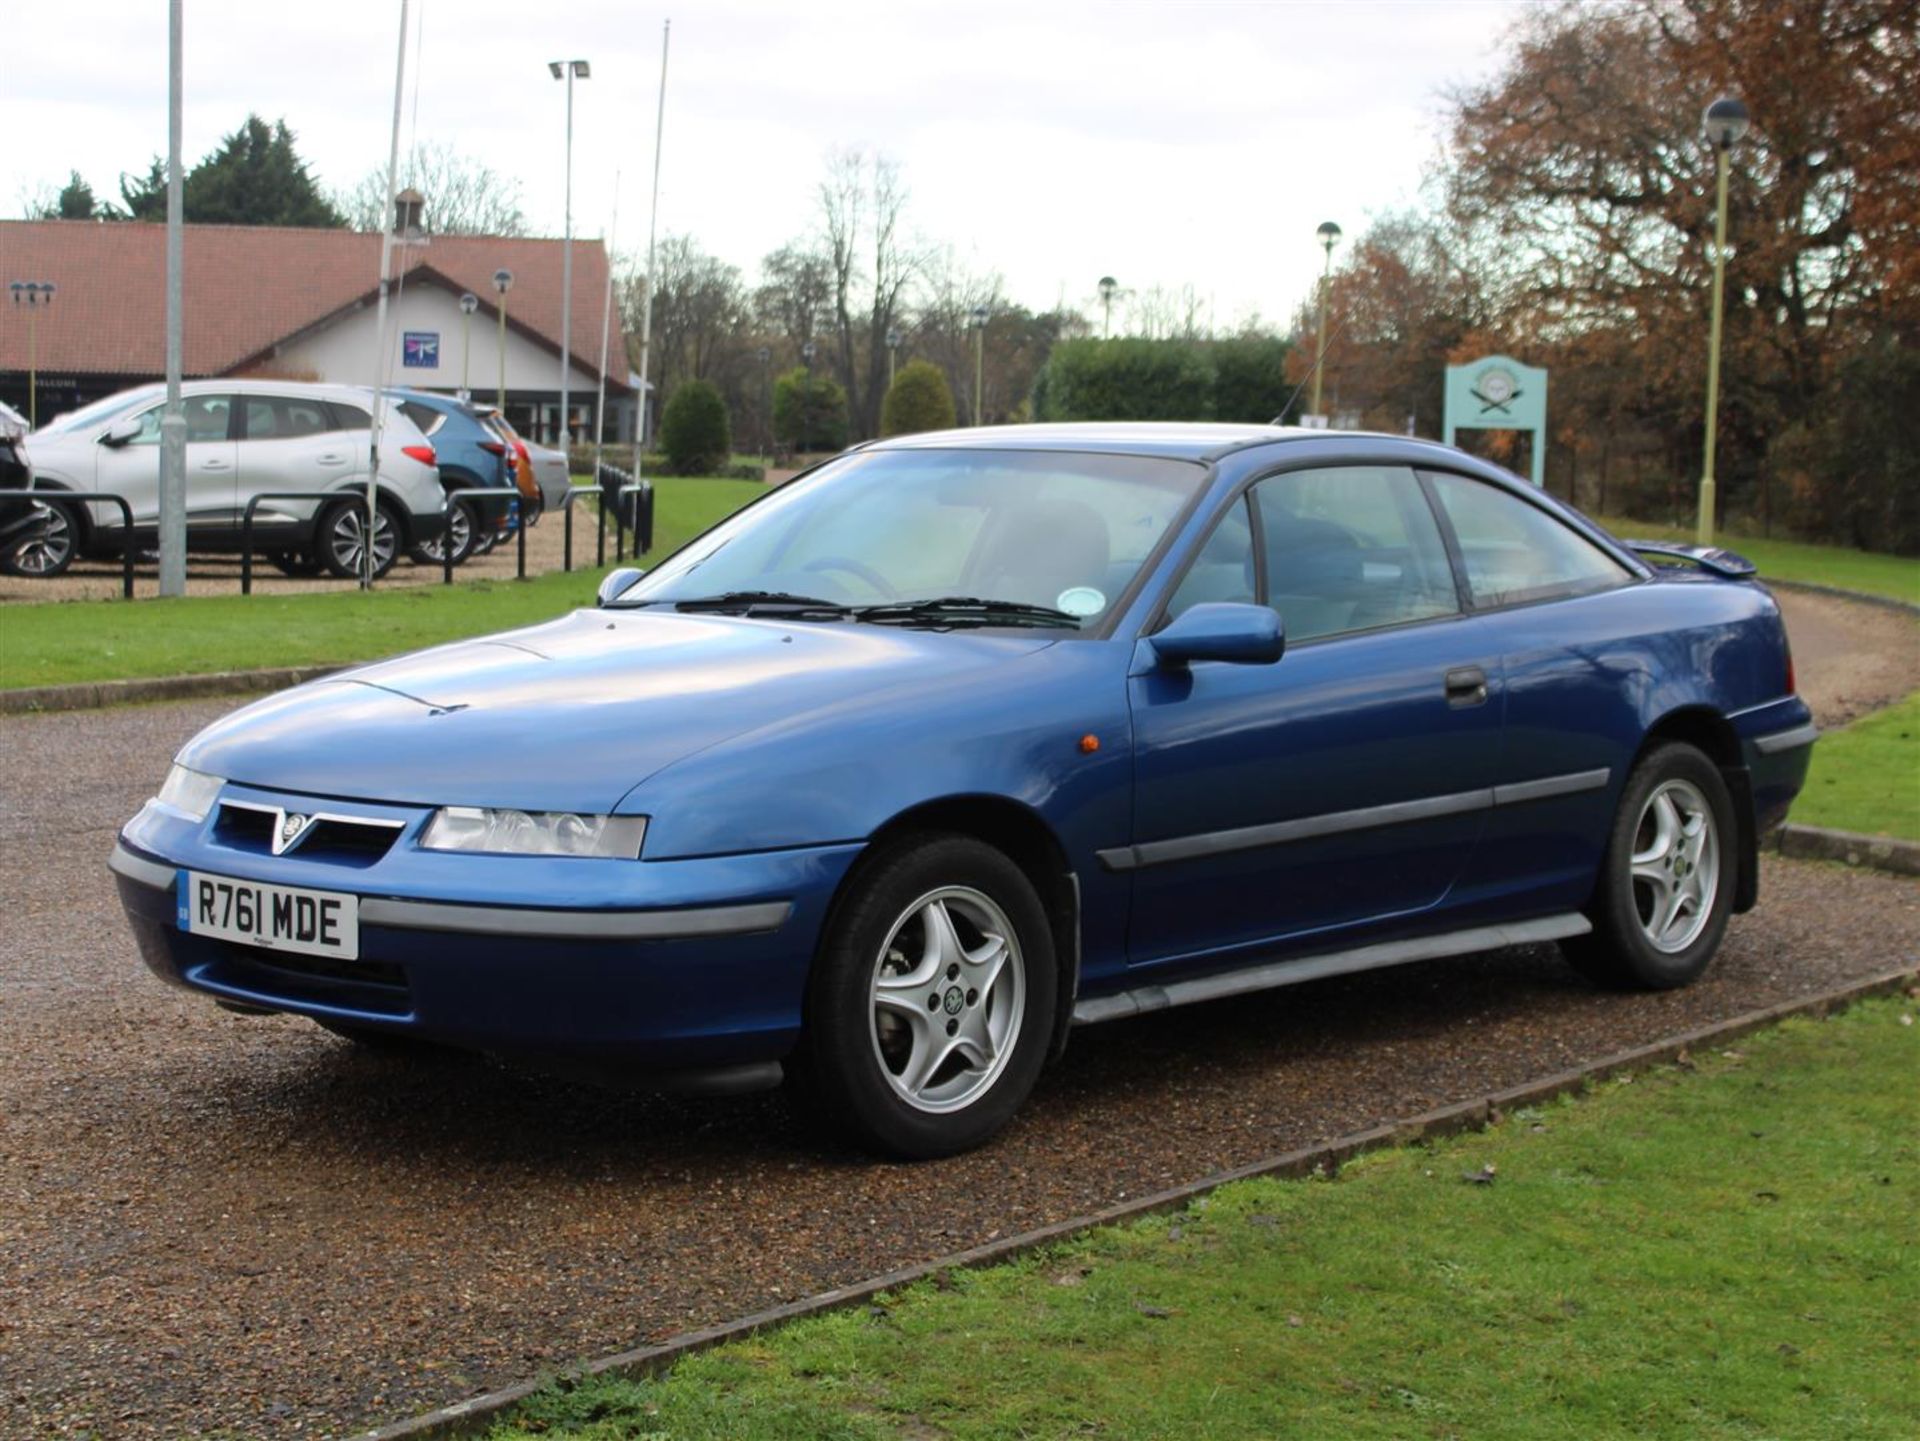
[[1267,604],[1290,643],[1459,610],[1440,526],[1411,470],[1294,470],[1260,482],[1254,503]]

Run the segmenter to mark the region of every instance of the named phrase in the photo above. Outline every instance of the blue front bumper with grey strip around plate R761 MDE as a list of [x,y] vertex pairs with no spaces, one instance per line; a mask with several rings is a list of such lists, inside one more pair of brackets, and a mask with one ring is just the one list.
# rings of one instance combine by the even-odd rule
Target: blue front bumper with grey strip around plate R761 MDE
[[[225,846],[213,817],[150,804],[109,865],[142,957],[171,984],[566,1069],[687,1071],[793,1048],[814,944],[858,852],[566,862],[420,852],[415,835],[372,865],[334,865]],[[180,931],[188,869],[359,896],[359,957]]]

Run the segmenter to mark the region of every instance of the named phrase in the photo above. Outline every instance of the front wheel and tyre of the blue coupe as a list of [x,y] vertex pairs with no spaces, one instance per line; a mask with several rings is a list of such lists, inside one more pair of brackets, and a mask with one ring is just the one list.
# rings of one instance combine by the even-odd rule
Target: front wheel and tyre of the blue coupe
[[1052,931],[1021,869],[970,837],[912,837],[862,869],[831,925],[803,1073],[860,1146],[966,1151],[1033,1090],[1056,998]]

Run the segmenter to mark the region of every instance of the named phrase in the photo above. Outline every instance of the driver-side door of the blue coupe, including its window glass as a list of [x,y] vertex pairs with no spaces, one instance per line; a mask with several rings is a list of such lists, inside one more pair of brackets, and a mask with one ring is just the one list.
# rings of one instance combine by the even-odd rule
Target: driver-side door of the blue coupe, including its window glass
[[[1461,604],[1411,470],[1271,476],[1169,602],[1260,597],[1271,666],[1135,675],[1129,963],[1221,969],[1438,906],[1486,821],[1500,654]],[[1238,956],[1236,956],[1238,954]]]

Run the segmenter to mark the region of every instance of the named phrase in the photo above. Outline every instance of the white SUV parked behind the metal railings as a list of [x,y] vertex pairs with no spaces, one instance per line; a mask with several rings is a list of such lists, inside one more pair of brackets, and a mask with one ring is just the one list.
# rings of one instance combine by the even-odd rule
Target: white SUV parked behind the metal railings
[[[186,547],[238,551],[248,501],[278,491],[317,499],[261,501],[253,545],[284,570],[357,576],[367,543],[367,436],[372,393],[290,380],[192,380],[186,413]],[[163,386],[109,395],[33,432],[38,491],[106,491],[132,507],[134,543],[157,543]],[[447,524],[434,447],[397,407],[382,428],[374,574],[401,549]],[[54,507],[73,524],[79,555],[119,555],[115,507]]]

